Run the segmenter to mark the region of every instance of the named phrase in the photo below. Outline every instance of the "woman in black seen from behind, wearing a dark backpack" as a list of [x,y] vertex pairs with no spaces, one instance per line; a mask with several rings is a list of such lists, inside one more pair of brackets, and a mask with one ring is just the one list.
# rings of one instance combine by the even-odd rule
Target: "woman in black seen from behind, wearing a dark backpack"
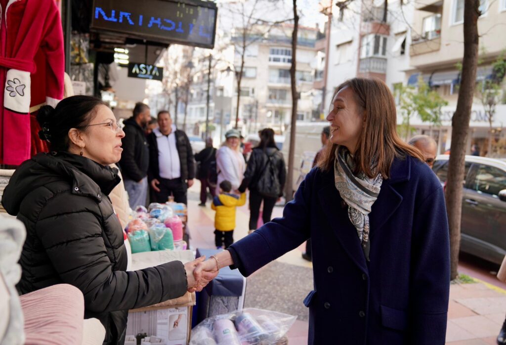
[[251,152],[244,179],[239,186],[241,193],[249,188],[249,232],[257,229],[262,201],[262,220],[264,224],[271,221],[274,204],[283,195],[285,179],[285,162],[274,141],[274,131],[264,128],[260,132],[260,143]]

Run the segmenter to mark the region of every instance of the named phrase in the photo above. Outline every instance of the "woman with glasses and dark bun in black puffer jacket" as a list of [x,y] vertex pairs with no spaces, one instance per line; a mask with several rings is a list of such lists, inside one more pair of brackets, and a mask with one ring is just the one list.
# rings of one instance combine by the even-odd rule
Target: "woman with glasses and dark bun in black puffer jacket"
[[40,108],[37,121],[53,152],[23,162],[2,197],[27,230],[17,288],[76,286],[85,318],[106,329],[104,344],[122,344],[129,309],[202,288],[206,281],[197,285],[192,274],[201,260],[126,272],[123,232],[108,197],[119,182],[108,165],[119,160],[124,137],[114,114],[98,99],[73,96]]

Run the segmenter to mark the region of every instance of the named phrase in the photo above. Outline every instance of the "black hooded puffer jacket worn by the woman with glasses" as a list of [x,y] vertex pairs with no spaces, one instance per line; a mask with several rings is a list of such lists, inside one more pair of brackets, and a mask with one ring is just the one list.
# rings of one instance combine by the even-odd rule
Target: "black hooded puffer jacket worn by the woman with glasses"
[[79,288],[85,318],[98,318],[107,344],[122,344],[129,309],[182,296],[187,280],[175,261],[125,272],[123,232],[107,196],[117,171],[70,153],[38,154],[21,164],[2,204],[27,231],[20,293],[59,283]]

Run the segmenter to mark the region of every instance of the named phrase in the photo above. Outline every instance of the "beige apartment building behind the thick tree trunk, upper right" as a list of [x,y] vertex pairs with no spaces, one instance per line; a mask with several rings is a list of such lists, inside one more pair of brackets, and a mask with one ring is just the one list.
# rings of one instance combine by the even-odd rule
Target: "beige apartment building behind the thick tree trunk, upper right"
[[[451,118],[456,108],[460,73],[457,63],[463,56],[463,9],[465,0],[426,1],[417,4],[414,12],[409,56],[411,70],[406,82],[416,85],[419,77],[438,91],[448,102],[442,109],[442,126],[434,128],[415,118],[411,123],[418,133],[430,134],[438,142],[440,152],[451,146]],[[476,81],[492,77],[493,61],[506,49],[503,37],[506,23],[506,0],[482,0],[478,19],[480,34],[480,64]],[[469,148],[478,144],[484,155],[489,135],[493,137],[493,152],[488,156],[506,156],[506,104],[504,94],[497,99],[496,113],[490,130],[488,116],[483,104],[475,97],[471,113]],[[502,149],[501,149],[502,147]],[[468,148],[468,151],[469,151]]]

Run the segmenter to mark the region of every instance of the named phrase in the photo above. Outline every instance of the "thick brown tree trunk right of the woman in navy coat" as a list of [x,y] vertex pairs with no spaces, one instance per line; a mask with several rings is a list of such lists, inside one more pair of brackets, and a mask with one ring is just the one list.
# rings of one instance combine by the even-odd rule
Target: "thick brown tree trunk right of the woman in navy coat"
[[450,279],[458,275],[458,251],[460,248],[460,221],[462,214],[462,182],[464,181],[464,165],[466,143],[473,106],[478,64],[478,10],[480,0],[468,0],[464,6],[464,56],[457,108],[451,120],[452,139],[451,154],[448,163],[448,180],[446,184],[446,211],[450,228]]

